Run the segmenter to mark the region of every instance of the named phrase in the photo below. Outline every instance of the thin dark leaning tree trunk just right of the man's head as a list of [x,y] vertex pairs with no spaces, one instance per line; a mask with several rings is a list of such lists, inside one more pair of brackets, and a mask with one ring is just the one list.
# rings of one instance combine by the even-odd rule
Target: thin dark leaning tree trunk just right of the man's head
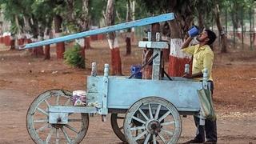
[[218,0],[214,0],[214,13],[215,13],[215,20],[216,20],[216,24],[218,27],[218,33],[221,37],[221,42],[222,42],[222,47],[221,47],[221,52],[222,53],[226,53],[226,34],[225,31],[222,28],[222,23],[220,21],[219,18],[219,14],[220,14],[220,10],[218,7]]

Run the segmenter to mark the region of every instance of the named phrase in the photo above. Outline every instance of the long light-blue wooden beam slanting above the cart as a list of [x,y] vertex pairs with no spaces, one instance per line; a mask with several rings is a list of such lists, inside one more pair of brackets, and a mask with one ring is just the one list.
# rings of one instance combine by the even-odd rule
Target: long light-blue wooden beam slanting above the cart
[[128,29],[131,27],[146,26],[146,25],[150,25],[153,23],[157,23],[157,22],[170,21],[173,19],[174,19],[173,13],[161,14],[158,16],[150,17],[150,18],[139,19],[139,20],[136,20],[133,22],[120,23],[120,24],[117,24],[114,26],[107,26],[107,27],[103,27],[100,29],[84,31],[82,33],[70,34],[70,35],[66,35],[63,37],[59,37],[59,38],[52,38],[52,39],[48,39],[48,40],[41,41],[41,42],[34,42],[34,43],[26,44],[25,47],[20,48],[20,49],[30,49],[30,48],[34,48],[37,46],[50,45],[52,43],[64,42],[64,41],[69,41],[71,39],[77,39],[77,38],[84,38],[86,36],[95,35],[95,34],[109,33],[109,32],[115,31],[115,30]]

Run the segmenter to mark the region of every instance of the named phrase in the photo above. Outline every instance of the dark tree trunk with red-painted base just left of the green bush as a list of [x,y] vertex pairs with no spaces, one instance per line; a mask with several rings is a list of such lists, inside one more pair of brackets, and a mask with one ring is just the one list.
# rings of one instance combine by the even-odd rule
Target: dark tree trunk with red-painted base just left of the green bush
[[[55,27],[55,37],[60,37],[62,33],[62,17],[59,15],[55,15],[54,17],[54,27]],[[65,52],[65,43],[58,42],[56,44],[56,54],[57,58],[62,59],[64,58]]]

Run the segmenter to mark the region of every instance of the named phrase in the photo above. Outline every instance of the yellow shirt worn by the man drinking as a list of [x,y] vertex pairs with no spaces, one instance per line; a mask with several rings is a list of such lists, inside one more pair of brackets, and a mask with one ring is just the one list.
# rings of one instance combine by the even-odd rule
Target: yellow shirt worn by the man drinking
[[[199,47],[199,45],[189,46],[182,49],[183,52],[193,55],[192,74],[197,74],[200,71],[203,73],[203,69],[207,68],[208,78],[213,81],[211,71],[214,64],[214,52],[210,49],[210,46],[205,45]],[[202,80],[202,78],[194,78],[195,80]]]

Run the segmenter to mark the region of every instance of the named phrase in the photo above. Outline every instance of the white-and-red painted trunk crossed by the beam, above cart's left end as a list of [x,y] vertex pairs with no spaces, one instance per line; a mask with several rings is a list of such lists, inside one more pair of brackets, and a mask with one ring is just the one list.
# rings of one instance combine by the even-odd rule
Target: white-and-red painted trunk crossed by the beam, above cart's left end
[[[114,25],[114,0],[108,0],[106,5],[106,26]],[[118,46],[118,38],[114,32],[107,34],[107,40],[111,50],[111,73],[114,75],[122,75],[122,62],[120,57],[120,51]]]

